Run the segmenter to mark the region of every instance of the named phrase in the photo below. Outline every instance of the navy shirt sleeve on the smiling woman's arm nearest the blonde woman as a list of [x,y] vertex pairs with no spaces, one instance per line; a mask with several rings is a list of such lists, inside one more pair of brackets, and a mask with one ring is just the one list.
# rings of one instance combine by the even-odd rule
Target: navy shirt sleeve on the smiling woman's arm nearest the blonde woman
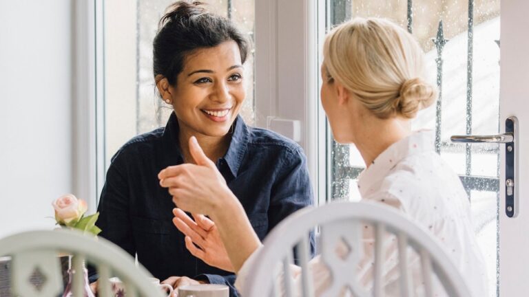
[[[313,192],[307,158],[301,148],[287,149],[280,174],[271,189],[268,210],[269,232],[296,210],[313,205]],[[315,252],[314,232],[309,234],[311,255]]]

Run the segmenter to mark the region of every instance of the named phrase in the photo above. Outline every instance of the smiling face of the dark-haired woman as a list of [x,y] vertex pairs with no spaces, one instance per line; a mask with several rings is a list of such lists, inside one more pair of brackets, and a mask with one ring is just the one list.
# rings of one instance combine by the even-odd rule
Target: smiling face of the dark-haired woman
[[226,135],[245,100],[243,70],[235,41],[188,55],[176,87],[169,87],[180,129]]

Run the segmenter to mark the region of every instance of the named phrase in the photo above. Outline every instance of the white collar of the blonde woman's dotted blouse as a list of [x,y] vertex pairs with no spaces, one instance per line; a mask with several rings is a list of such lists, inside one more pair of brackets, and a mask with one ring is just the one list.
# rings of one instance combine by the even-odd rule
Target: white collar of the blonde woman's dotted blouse
[[433,133],[429,130],[415,131],[408,137],[391,144],[378,155],[371,166],[358,176],[358,190],[362,197],[371,192],[373,186],[380,183],[399,162],[410,155],[420,154],[433,149]]

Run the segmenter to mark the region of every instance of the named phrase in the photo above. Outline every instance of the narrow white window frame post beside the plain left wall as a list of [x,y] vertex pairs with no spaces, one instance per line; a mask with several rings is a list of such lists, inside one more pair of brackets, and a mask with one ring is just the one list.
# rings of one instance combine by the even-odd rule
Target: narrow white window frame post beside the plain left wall
[[74,1],[72,189],[95,212],[105,177],[103,0]]

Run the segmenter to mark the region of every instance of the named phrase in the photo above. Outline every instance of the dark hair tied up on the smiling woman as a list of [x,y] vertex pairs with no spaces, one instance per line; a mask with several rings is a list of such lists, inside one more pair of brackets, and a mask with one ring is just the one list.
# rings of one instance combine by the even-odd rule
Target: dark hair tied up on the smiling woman
[[152,43],[154,78],[161,74],[169,84],[176,85],[176,77],[183,70],[185,56],[226,41],[237,43],[240,60],[245,63],[249,51],[246,37],[234,23],[207,12],[199,5],[203,3],[176,1],[165,10]]

